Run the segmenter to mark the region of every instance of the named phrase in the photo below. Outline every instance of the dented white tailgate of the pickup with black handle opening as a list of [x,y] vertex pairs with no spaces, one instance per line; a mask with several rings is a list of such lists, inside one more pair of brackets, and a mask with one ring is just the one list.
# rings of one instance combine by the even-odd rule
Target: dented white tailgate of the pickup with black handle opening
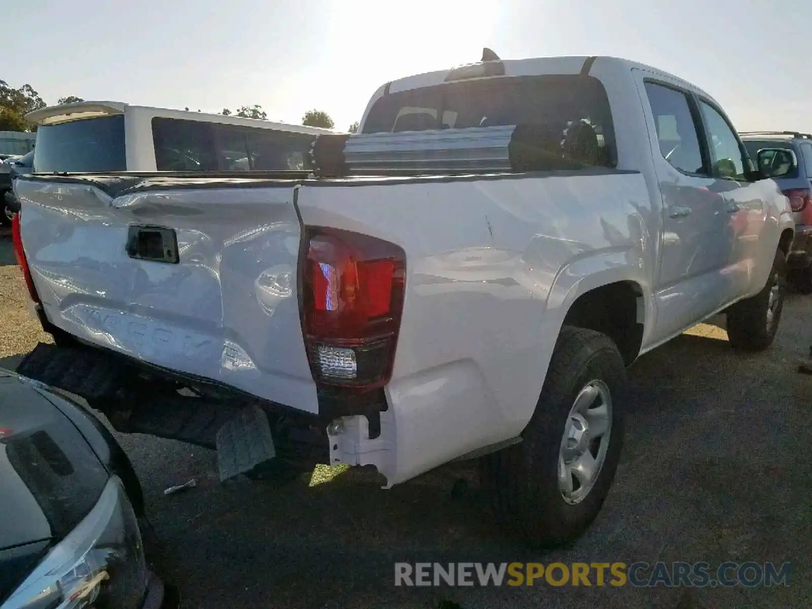
[[[141,361],[317,412],[296,292],[296,181],[125,185],[19,180],[25,254],[50,322]],[[134,231],[161,231],[164,244],[176,235],[177,251],[165,261],[128,253]]]

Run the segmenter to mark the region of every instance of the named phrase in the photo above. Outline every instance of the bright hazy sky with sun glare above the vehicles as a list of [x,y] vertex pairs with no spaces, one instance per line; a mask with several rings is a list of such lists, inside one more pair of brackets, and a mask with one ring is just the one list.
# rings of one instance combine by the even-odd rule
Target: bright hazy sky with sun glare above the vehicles
[[0,79],[345,129],[379,84],[477,61],[609,54],[716,97],[739,130],[812,131],[812,1],[0,0]]

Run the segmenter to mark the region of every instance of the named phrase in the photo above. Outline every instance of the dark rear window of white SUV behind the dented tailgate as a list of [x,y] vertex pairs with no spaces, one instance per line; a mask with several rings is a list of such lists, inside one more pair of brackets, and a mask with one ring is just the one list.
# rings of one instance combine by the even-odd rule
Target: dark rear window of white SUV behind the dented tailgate
[[34,171],[127,171],[124,115],[42,125]]

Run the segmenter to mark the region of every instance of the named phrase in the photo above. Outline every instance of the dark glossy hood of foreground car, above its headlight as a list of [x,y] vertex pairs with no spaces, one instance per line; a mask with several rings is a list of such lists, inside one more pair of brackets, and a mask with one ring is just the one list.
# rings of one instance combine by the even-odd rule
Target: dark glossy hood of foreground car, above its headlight
[[0,372],[0,598],[97,502],[109,474],[33,382]]

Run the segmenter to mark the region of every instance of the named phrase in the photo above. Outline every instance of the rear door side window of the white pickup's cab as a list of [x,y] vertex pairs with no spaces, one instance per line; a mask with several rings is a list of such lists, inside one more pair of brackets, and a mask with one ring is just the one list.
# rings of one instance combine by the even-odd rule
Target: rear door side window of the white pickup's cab
[[663,158],[685,173],[706,174],[697,124],[685,93],[661,84],[646,83],[646,95],[654,114]]

